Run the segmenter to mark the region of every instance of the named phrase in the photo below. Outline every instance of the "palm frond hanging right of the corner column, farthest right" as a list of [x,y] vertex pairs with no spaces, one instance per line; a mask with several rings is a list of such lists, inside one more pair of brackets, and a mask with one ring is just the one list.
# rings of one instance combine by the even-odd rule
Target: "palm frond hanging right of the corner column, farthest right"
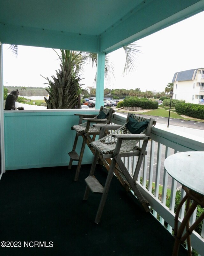
[[138,53],[141,51],[138,49],[138,44],[136,42],[123,46],[126,55],[125,67],[123,70],[123,75],[130,74],[136,69],[135,61],[137,59]]

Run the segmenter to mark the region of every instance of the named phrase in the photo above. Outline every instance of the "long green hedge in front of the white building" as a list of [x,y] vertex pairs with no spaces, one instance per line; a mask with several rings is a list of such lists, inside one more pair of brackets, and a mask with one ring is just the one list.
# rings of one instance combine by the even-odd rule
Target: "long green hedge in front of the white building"
[[203,105],[178,102],[175,105],[175,109],[176,109],[176,112],[181,115],[204,119],[204,106]]

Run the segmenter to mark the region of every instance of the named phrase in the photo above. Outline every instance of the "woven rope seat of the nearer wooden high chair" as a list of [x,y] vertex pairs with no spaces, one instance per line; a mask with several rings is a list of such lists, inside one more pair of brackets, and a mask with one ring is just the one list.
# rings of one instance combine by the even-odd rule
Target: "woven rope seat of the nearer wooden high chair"
[[[114,138],[112,134],[132,134],[126,127],[126,124],[121,126],[115,132],[112,132],[111,134],[107,135],[106,137],[91,142],[91,146],[98,149],[102,154],[113,154],[118,139]],[[146,129],[140,134],[144,134],[145,131]],[[138,148],[138,142],[139,140],[123,140],[120,147],[120,153],[134,151],[136,148]]]

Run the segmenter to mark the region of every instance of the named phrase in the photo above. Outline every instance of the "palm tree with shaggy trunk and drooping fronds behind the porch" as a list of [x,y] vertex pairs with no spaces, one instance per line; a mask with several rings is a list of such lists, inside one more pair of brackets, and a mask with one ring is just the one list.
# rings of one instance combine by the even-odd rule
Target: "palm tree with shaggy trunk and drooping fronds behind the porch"
[[[18,45],[10,46],[12,52],[18,55]],[[123,75],[132,72],[135,69],[135,60],[137,54],[141,52],[136,42],[123,46],[126,54]],[[55,50],[54,50],[55,51]],[[61,56],[57,53],[61,60],[61,65],[56,71],[56,77],[52,76],[51,81],[48,77],[44,77],[49,84],[47,92],[50,95],[49,100],[46,99],[48,108],[80,108],[81,88],[79,81],[80,75],[83,74],[84,65],[91,61],[92,66],[97,65],[97,53],[78,52],[70,50],[60,50]],[[109,56],[105,58],[105,79],[111,80],[114,77],[113,63],[109,60]],[[95,76],[96,80],[96,76]],[[118,93],[120,94],[120,93]],[[68,103],[69,102],[69,103]],[[77,104],[78,102],[78,104]]]

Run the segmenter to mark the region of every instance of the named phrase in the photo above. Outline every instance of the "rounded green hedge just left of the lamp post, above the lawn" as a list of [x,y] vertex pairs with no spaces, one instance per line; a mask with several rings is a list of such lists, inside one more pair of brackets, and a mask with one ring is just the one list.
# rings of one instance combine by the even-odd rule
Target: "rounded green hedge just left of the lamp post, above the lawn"
[[123,106],[124,107],[140,107],[143,109],[157,109],[158,108],[158,102],[157,101],[152,101],[148,100],[147,98],[126,98],[123,101]]

